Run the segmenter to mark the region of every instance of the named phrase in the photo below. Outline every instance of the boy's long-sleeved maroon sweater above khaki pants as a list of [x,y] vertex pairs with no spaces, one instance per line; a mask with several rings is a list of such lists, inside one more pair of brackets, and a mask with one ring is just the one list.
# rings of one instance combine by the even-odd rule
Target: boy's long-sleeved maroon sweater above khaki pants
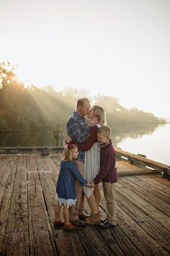
[[95,185],[99,184],[99,182],[115,183],[118,181],[115,163],[115,149],[110,140],[108,145],[100,148],[100,170],[99,174],[94,178]]

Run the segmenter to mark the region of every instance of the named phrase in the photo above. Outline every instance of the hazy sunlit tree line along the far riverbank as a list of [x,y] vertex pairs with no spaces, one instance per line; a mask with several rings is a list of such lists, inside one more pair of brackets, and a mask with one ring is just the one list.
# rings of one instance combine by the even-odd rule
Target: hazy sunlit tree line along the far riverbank
[[25,87],[9,62],[0,63],[0,131],[40,129],[66,125],[68,116],[76,109],[78,98],[88,97],[106,111],[110,127],[141,127],[165,123],[151,113],[137,108],[127,109],[117,98],[97,95],[93,99],[86,91],[65,88],[57,91],[52,86]]

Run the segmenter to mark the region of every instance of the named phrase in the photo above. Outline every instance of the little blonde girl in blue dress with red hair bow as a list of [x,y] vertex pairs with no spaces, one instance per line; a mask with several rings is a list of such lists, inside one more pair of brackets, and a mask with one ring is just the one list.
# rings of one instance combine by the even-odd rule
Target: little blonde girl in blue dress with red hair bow
[[[81,186],[89,186],[86,179],[81,176],[76,164],[73,162],[77,159],[79,153],[76,145],[68,143],[64,148],[64,158],[61,161],[61,171],[58,175],[58,182],[56,187],[56,192],[58,194],[58,204],[55,208],[55,229],[59,229],[63,226],[64,231],[75,230],[77,226],[73,226],[69,222],[69,208],[71,205],[76,204],[76,192],[74,187],[74,178],[79,180]],[[63,217],[65,223],[60,220],[61,206],[63,205]]]

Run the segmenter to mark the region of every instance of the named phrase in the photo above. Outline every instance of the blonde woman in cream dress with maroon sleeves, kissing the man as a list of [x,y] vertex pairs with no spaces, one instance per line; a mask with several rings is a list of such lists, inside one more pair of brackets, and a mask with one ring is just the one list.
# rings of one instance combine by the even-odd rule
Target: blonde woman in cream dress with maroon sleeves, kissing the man
[[[86,144],[78,143],[78,147],[81,150],[85,150],[84,160],[84,179],[89,183],[93,182],[94,177],[99,172],[99,143],[97,142],[97,129],[106,124],[104,109],[101,106],[94,105],[87,117],[92,119],[97,116],[98,124],[94,124],[91,127],[89,136],[86,139]],[[83,187],[87,201],[91,207],[92,215],[89,220],[86,221],[89,225],[95,225],[99,223],[99,202],[100,202],[100,189],[99,185],[94,188]]]

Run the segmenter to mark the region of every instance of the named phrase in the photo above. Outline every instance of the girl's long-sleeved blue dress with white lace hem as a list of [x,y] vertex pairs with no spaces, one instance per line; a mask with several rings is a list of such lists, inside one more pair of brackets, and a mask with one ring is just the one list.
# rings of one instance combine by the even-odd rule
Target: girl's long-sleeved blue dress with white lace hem
[[59,205],[70,207],[76,204],[75,179],[78,179],[81,186],[87,184],[86,179],[81,176],[76,164],[73,162],[61,162],[61,171],[58,175],[56,192]]

